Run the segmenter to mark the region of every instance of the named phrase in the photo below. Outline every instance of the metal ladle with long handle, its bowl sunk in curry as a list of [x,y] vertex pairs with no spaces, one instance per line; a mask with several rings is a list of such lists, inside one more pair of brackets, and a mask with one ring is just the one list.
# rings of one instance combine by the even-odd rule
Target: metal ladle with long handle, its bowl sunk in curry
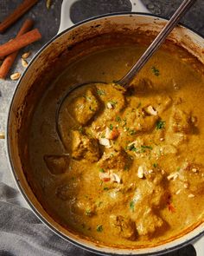
[[[185,14],[185,12],[195,3],[196,0],[184,0],[182,4],[179,6],[179,8],[175,11],[175,14],[171,16],[169,19],[169,22],[166,23],[166,25],[163,27],[163,30],[156,36],[155,40],[150,44],[148,49],[145,50],[143,55],[139,58],[139,60],[135,63],[135,65],[131,68],[131,70],[124,75],[118,82],[119,85],[127,89],[133,78],[137,75],[140,69],[143,68],[143,65],[149,61],[150,57],[156,52],[156,50],[161,46],[163,41],[169,36],[170,32],[175,28],[177,23],[181,20],[182,16]],[[58,128],[58,120],[59,120],[59,114],[61,110],[61,105],[66,100],[67,96],[73,92],[73,89],[77,89],[83,85],[91,84],[91,83],[106,83],[106,82],[86,82],[83,84],[74,84],[72,87],[70,87],[67,91],[67,94],[64,95],[64,97],[61,99],[61,102],[58,106],[58,109],[56,111],[56,128],[57,133],[61,138],[61,134],[59,132]]]

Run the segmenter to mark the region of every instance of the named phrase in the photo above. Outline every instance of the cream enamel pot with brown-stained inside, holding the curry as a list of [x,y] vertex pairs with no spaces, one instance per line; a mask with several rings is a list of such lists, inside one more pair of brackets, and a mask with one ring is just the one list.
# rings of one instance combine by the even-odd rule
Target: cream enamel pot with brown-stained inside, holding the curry
[[[78,235],[68,232],[45,211],[30,188],[27,177],[29,170],[25,170],[24,166],[25,159],[28,157],[28,148],[26,144],[23,144],[23,141],[26,141],[28,134],[26,130],[29,128],[29,119],[38,102],[38,96],[43,92],[43,89],[45,89],[43,85],[40,86],[41,82],[39,81],[39,77],[43,77],[43,74],[48,72],[57,57],[61,56],[67,49],[71,52],[72,46],[82,40],[90,39],[92,36],[99,34],[118,32],[124,29],[129,31],[143,30],[146,33],[150,33],[150,31],[158,33],[166,22],[165,19],[152,15],[118,13],[96,17],[66,29],[67,26],[72,25],[68,18],[69,14],[67,13],[71,3],[73,3],[73,1],[64,1],[61,13],[61,33],[54,36],[29,63],[28,69],[26,69],[26,72],[18,82],[10,104],[7,124],[7,148],[10,167],[17,186],[34,213],[45,225],[54,231],[54,233],[57,233],[63,239],[70,241],[74,245],[94,253],[158,255],[160,253],[168,253],[171,250],[178,249],[198,240],[197,244],[194,244],[197,246],[197,255],[204,255],[204,240],[203,238],[199,240],[204,234],[204,222],[200,223],[199,226],[195,226],[189,233],[184,233],[182,236],[163,245],[134,250],[111,248],[82,239]],[[169,36],[169,40],[188,49],[190,53],[204,64],[204,39],[194,31],[179,26]]]

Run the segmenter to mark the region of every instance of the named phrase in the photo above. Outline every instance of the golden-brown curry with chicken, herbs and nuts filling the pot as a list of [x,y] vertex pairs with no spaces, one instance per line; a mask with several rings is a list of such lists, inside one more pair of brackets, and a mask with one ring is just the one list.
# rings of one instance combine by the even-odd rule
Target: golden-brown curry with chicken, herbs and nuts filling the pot
[[[143,50],[118,46],[73,62],[42,97],[29,136],[42,205],[73,233],[107,246],[154,246],[204,218],[203,69],[166,46],[130,89],[115,84]],[[57,102],[86,81],[107,84],[67,97],[59,136]]]

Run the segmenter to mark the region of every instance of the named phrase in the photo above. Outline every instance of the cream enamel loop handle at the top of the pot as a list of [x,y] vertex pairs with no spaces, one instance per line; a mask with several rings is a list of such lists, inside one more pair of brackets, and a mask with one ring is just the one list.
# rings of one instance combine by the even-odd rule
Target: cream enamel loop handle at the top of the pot
[[[76,0],[63,0],[63,2],[61,3],[61,24],[57,34],[74,25],[70,18],[70,10],[71,6],[75,2]],[[150,11],[146,9],[146,7],[140,0],[130,0],[130,2],[132,6],[131,11],[150,13]]]

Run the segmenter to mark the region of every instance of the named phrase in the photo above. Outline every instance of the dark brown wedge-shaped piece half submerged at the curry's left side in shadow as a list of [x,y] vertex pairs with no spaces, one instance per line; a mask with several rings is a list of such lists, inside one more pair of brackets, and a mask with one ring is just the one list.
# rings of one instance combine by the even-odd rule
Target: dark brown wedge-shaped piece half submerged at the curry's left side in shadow
[[51,174],[64,174],[69,166],[68,155],[45,155],[44,161]]

